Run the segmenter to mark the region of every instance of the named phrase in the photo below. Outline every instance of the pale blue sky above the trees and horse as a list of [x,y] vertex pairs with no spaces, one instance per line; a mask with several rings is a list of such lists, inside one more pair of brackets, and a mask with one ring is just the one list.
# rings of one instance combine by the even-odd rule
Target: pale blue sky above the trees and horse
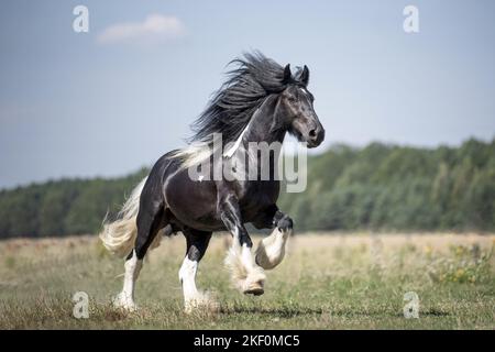
[[[89,32],[73,30],[86,6]],[[403,29],[418,9],[419,32]],[[0,4],[0,188],[117,177],[185,145],[245,51],[308,65],[326,142],[495,136],[494,1]],[[317,151],[318,152],[318,151]]]

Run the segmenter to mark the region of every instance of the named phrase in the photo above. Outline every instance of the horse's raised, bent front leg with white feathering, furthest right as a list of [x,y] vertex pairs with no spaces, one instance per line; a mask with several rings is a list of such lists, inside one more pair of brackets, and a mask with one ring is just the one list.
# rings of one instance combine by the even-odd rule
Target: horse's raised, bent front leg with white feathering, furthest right
[[264,238],[256,249],[256,264],[264,270],[272,270],[280,264],[285,256],[287,239],[293,232],[293,220],[278,209],[271,221],[270,227],[273,226],[275,229],[272,234]]

